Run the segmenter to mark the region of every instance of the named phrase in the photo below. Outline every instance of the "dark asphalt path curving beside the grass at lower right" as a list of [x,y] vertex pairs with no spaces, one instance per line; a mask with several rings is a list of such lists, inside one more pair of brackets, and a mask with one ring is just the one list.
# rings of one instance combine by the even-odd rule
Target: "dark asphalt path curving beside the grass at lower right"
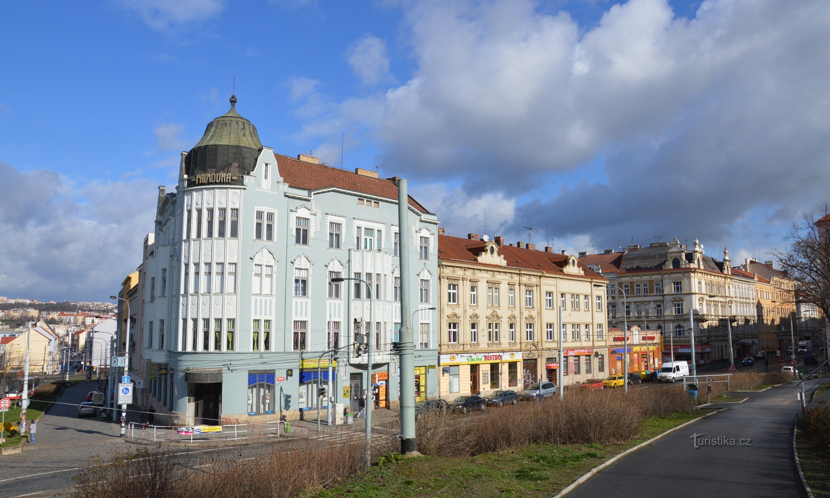
[[[807,496],[793,460],[793,422],[801,407],[795,384],[741,393],[749,397],[745,403],[715,405],[729,409],[624,457],[569,498]],[[695,447],[693,440],[704,444]]]

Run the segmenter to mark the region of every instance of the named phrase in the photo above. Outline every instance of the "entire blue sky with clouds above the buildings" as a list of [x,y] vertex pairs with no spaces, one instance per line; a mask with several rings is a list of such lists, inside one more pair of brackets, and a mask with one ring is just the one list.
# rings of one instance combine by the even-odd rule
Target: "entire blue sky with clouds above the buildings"
[[7,3],[0,295],[115,294],[232,91],[448,234],[771,259],[830,197],[828,51],[825,0]]

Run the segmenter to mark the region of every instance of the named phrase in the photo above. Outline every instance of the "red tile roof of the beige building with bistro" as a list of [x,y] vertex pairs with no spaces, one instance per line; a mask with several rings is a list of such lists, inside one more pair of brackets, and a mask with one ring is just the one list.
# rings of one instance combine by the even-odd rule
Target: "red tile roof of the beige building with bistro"
[[[476,259],[484,248],[486,242],[470,240],[461,237],[451,237],[448,235],[438,235],[438,257],[444,261],[463,261],[466,263],[475,263],[476,265],[484,265],[479,263]],[[568,275],[563,271],[567,264],[568,256],[564,254],[554,254],[551,252],[536,251],[535,249],[526,249],[524,247],[514,246],[499,246],[499,254],[504,256],[505,263],[511,268],[521,268],[524,270],[544,271],[545,273],[555,273],[559,275]],[[605,277],[599,275],[597,272],[578,263],[579,267],[585,272],[588,278],[598,278],[607,280]],[[493,265],[484,265],[493,266]],[[576,275],[579,277],[579,275]]]

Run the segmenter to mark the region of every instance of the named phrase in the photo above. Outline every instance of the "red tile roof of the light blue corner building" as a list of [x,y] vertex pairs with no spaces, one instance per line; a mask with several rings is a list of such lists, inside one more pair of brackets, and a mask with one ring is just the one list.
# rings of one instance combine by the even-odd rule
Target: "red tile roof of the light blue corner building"
[[[274,154],[277,170],[283,180],[296,188],[319,190],[338,187],[377,197],[398,200],[398,184],[388,178],[373,178],[354,173],[349,169],[333,168],[325,164],[314,164],[282,154]],[[429,212],[426,207],[409,196],[409,205],[420,212]]]

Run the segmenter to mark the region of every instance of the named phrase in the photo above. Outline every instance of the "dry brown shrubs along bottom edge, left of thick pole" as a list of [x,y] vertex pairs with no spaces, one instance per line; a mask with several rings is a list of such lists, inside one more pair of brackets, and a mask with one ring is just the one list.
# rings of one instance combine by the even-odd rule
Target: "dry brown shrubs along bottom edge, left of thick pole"
[[[76,477],[72,498],[294,498],[363,470],[362,440],[279,442],[200,459],[180,448],[117,452]],[[247,454],[250,452],[250,455]]]

